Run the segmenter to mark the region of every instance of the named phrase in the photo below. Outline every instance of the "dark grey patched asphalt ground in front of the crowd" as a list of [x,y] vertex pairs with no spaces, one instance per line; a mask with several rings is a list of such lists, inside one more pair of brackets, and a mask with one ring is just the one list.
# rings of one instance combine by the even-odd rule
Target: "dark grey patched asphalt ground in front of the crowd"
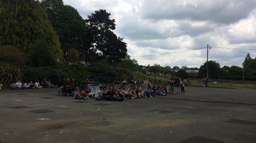
[[58,89],[0,91],[0,143],[256,142],[256,90],[185,87],[186,94],[73,100]]

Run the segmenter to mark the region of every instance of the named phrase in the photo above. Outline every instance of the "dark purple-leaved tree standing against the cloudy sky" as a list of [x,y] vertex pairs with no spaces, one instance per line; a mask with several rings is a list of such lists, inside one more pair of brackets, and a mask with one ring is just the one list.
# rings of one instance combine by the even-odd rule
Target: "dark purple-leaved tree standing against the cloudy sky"
[[85,20],[88,33],[86,39],[90,52],[96,52],[99,58],[107,58],[111,63],[115,63],[126,57],[127,45],[113,33],[116,24],[115,19],[110,19],[110,15],[106,10],[88,15]]

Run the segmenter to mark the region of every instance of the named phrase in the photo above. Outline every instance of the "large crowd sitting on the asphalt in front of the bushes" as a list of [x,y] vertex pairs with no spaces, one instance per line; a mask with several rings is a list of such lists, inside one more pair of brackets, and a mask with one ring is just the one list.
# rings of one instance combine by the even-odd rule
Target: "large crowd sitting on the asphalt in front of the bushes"
[[[112,100],[123,101],[126,99],[137,98],[152,98],[155,96],[165,96],[168,94],[179,94],[173,88],[167,89],[166,85],[153,85],[149,80],[141,80],[134,82],[131,85],[120,85],[119,88],[114,84],[106,88],[100,88],[95,95],[92,95],[91,89],[82,88],[77,91],[79,95],[75,99],[88,100],[88,98],[95,98],[95,100]],[[77,94],[76,94],[77,95]]]

